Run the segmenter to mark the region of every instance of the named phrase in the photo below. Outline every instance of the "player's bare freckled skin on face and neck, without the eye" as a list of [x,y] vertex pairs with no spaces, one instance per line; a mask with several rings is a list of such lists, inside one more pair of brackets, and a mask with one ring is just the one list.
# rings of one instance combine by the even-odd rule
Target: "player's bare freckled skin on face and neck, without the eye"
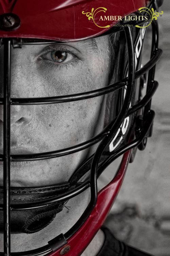
[[[39,58],[39,53],[47,45],[34,45],[13,49],[11,67],[12,97],[50,97],[95,90],[108,84],[108,38],[98,40],[98,51],[91,50],[82,43],[62,44],[73,51],[79,59],[72,65],[57,66]],[[74,58],[74,57],[73,57]],[[2,84],[2,83],[1,83]],[[2,86],[0,94],[2,96]],[[11,108],[11,149],[24,147],[33,153],[48,152],[70,147],[86,141],[103,129],[105,97],[97,97],[77,102],[37,106],[12,106]],[[105,103],[105,102],[104,102]],[[0,120],[3,120],[0,106]],[[0,131],[2,131],[0,122]],[[1,148],[2,148],[2,132]],[[94,149],[93,149],[94,150]],[[12,186],[40,186],[65,182],[75,168],[91,152],[85,150],[49,160],[20,162],[11,166]],[[2,165],[0,165],[2,181]],[[1,183],[2,184],[2,183]],[[13,234],[12,251],[26,251],[43,246],[57,234],[65,233],[78,220],[89,200],[89,190],[70,199],[70,211],[63,209],[54,221],[35,234]],[[104,240],[101,231],[83,256],[96,255]],[[0,250],[3,248],[0,234]],[[97,241],[97,242],[95,242]],[[96,244],[97,243],[97,244]],[[96,245],[95,245],[96,244]]]

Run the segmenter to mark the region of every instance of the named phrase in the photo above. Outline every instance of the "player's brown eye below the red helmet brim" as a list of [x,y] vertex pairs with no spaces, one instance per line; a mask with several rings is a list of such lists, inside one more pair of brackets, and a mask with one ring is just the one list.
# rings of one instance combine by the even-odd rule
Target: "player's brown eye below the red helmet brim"
[[39,56],[40,60],[50,62],[51,65],[61,66],[61,65],[73,65],[78,60],[81,60],[71,49],[67,48],[65,45],[50,45],[45,47],[43,53]]

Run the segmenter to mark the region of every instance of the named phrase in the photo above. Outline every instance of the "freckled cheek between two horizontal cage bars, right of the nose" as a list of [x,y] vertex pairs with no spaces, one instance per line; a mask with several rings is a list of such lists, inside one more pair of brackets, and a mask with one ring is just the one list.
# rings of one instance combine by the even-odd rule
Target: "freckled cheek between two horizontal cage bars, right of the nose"
[[57,150],[90,139],[98,121],[101,100],[100,97],[37,109],[36,133],[43,149],[47,144],[50,150]]

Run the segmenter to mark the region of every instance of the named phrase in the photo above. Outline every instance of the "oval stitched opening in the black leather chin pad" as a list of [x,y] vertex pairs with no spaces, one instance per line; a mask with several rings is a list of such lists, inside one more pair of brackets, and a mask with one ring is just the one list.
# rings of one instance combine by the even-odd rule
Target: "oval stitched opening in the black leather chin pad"
[[27,220],[22,227],[24,233],[35,233],[47,227],[55,218],[56,214],[41,213]]

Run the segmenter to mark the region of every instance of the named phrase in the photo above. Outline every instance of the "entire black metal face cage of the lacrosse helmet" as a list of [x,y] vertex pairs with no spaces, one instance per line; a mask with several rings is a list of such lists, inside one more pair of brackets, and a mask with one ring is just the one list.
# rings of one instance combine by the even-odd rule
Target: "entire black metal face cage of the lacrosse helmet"
[[[138,22],[139,23],[139,22]],[[88,91],[85,93],[48,97],[48,98],[11,98],[10,95],[10,58],[11,58],[11,45],[13,47],[20,47],[21,41],[16,41],[15,39],[4,38],[1,39],[1,43],[4,46],[4,97],[0,98],[0,104],[3,105],[3,154],[0,155],[0,161],[3,161],[3,204],[0,205],[0,210],[3,211],[4,218],[4,252],[0,255],[16,255],[16,256],[30,256],[30,255],[41,255],[49,253],[52,251],[51,244],[57,248],[65,242],[84,224],[86,219],[89,217],[91,211],[94,209],[97,202],[97,178],[103,172],[103,170],[113,162],[117,157],[125,153],[126,151],[138,146],[139,149],[144,149],[146,145],[147,137],[151,136],[151,127],[154,119],[154,111],[150,110],[151,99],[155,90],[157,89],[158,83],[154,81],[155,64],[159,60],[162,50],[158,49],[158,25],[156,20],[152,21],[152,48],[151,48],[151,58],[146,63],[145,66],[140,68],[135,72],[135,51],[134,43],[132,37],[132,29],[130,27],[114,28],[109,31],[115,32],[118,30],[123,30],[125,32],[127,49],[128,49],[128,77],[125,79],[109,85],[107,87]],[[23,40],[22,44],[37,44],[42,43],[41,41],[36,42],[34,40]],[[43,44],[45,42],[43,41]],[[51,42],[46,42],[51,43]],[[135,80],[148,72],[148,82],[147,82],[147,92],[146,95],[137,102],[137,104],[130,107]],[[100,132],[94,138],[80,143],[78,145],[64,148],[62,150],[57,150],[53,152],[29,154],[29,155],[11,155],[10,153],[10,107],[11,105],[24,105],[24,104],[52,104],[60,102],[70,102],[77,100],[84,100],[93,97],[98,97],[111,93],[115,90],[121,89],[126,86],[126,94],[122,108],[119,115],[112,120],[107,127]],[[130,107],[130,108],[129,108]],[[130,134],[131,139],[126,145],[121,145],[116,148],[113,152],[106,152],[105,148],[114,138],[117,130],[121,126],[123,120],[136,113],[139,110],[142,111],[142,122],[139,122],[135,128],[134,134]],[[134,132],[133,132],[134,133]],[[101,141],[101,142],[100,142]],[[95,154],[89,157],[82,165],[79,167],[75,173],[83,172],[86,173],[90,169],[90,179],[79,182],[75,187],[73,187],[69,192],[63,194],[62,196],[56,196],[53,199],[42,200],[33,203],[22,203],[22,204],[10,204],[10,163],[11,161],[31,161],[40,159],[49,159],[54,157],[65,156],[72,154],[85,148],[88,148],[96,143],[100,142]],[[104,155],[104,157],[103,157]],[[102,158],[103,157],[103,158]],[[102,159],[102,160],[101,160]],[[57,236],[50,244],[37,248],[35,250],[27,252],[11,253],[10,251],[10,212],[11,211],[21,211],[28,209],[38,209],[43,208],[47,205],[54,205],[59,202],[67,201],[68,199],[80,194],[86,188],[91,189],[91,199],[88,207],[84,211],[80,219],[75,223],[75,225],[67,231],[64,235]]]

